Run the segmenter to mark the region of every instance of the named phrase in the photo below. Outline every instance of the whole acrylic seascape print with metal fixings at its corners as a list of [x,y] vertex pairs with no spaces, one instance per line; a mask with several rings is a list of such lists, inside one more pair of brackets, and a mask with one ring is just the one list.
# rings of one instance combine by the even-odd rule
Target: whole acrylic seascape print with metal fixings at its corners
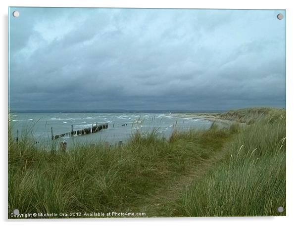
[[8,13],[9,219],[286,215],[285,10]]

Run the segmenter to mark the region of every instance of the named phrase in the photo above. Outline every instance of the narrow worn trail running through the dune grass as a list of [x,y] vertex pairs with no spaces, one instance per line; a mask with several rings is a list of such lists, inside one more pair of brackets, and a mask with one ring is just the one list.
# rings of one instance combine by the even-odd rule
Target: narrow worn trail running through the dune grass
[[199,165],[194,167],[188,175],[177,176],[165,181],[160,187],[152,191],[151,194],[140,197],[140,205],[135,207],[133,211],[145,212],[146,217],[170,217],[175,212],[176,201],[181,198],[184,189],[192,184],[192,182],[198,181],[216,163],[219,163],[225,154],[223,150],[214,152],[209,159],[203,160]]

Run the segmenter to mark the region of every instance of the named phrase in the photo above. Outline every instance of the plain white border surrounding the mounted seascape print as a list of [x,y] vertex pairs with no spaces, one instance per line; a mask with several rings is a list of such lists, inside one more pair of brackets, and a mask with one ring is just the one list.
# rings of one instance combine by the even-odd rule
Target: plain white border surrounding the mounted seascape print
[[[293,0],[1,0],[1,221],[7,224],[7,7],[8,6],[43,6],[43,7],[141,7],[141,8],[243,8],[243,9],[286,9],[287,10],[287,217],[267,218],[159,218],[159,219],[80,219],[80,220],[30,220],[10,221],[12,224],[115,224],[115,225],[152,225],[169,222],[174,225],[292,225],[297,219],[297,76],[298,48],[297,27],[298,8]],[[296,220],[297,222],[297,220]]]

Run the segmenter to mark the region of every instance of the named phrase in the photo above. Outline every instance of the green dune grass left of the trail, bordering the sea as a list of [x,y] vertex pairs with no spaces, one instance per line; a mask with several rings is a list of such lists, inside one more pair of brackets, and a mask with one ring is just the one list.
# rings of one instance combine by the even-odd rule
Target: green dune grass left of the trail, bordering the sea
[[[10,134],[10,133],[9,133]],[[46,151],[29,137],[8,139],[8,212],[110,212],[138,209],[165,181],[222,147],[229,130],[175,131],[170,139],[135,133],[126,144],[75,145]],[[149,213],[148,213],[149,215]],[[10,216],[9,216],[10,217]]]

